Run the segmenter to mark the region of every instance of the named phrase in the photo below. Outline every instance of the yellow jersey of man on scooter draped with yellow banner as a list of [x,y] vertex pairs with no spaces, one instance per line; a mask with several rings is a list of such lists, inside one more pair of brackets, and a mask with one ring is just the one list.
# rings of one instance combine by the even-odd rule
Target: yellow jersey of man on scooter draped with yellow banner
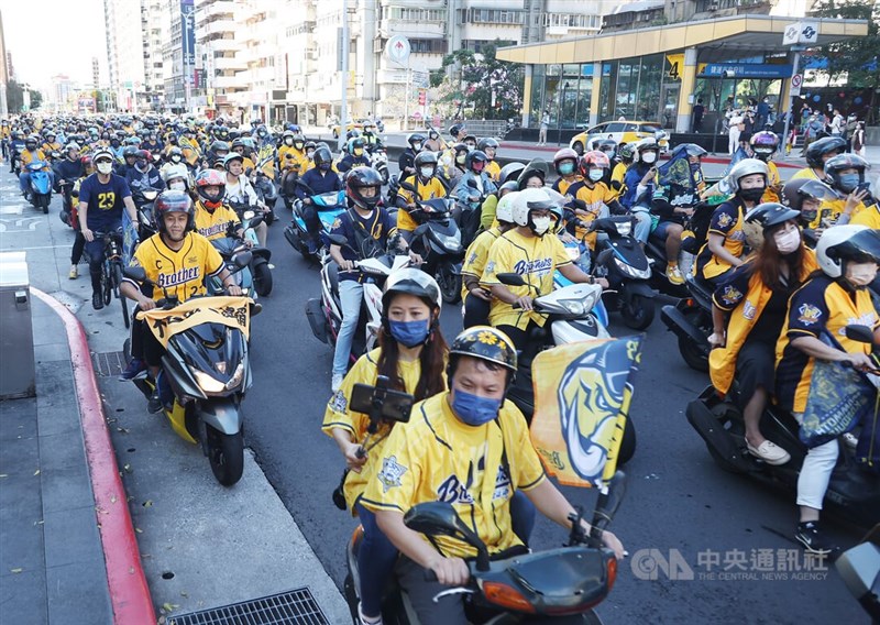
[[[131,266],[143,267],[146,277],[156,284],[153,299],[164,297],[163,287],[180,301],[205,295],[205,278],[223,271],[223,259],[211,242],[198,232],[189,232],[176,252],[156,233],[138,245]],[[128,279],[128,278],[125,278]],[[133,281],[132,284],[135,284]]]

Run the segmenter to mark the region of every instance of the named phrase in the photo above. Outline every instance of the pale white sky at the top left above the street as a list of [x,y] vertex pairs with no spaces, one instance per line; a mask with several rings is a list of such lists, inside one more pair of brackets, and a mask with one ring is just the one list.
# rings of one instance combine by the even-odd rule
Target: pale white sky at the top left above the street
[[102,0],[0,0],[0,12],[19,81],[48,88],[52,76],[66,74],[91,84],[91,57],[97,56],[107,83]]

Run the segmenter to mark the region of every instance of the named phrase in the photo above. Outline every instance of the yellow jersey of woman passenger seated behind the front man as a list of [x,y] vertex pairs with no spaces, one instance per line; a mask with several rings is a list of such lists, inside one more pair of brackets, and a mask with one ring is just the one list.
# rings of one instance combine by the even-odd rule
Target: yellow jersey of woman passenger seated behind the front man
[[[352,442],[364,443],[366,428],[370,426],[370,417],[363,413],[353,413],[349,408],[349,402],[351,401],[352,390],[355,384],[359,382],[370,385],[376,383],[378,359],[381,354],[381,348],[376,348],[359,358],[358,362],[354,363],[354,366],[352,366],[351,371],[345,375],[339,391],[330,397],[330,402],[327,404],[327,410],[323,414],[323,424],[321,425],[321,431],[327,436],[332,437],[333,429],[339,428],[351,434]],[[399,360],[397,363],[397,372],[404,381],[404,391],[410,395],[414,394],[416,392],[416,386],[418,386],[419,379],[421,377],[421,361],[418,359],[413,361]],[[367,482],[375,473],[374,469],[380,462],[377,459],[382,458],[385,443],[388,440],[387,436],[391,434],[392,429],[396,427],[406,426],[404,424],[382,424],[380,426],[376,434],[371,437],[367,443],[370,448],[367,452],[369,456],[363,469],[361,469],[360,473],[351,471],[345,479],[343,491],[345,493],[345,502],[348,502],[349,509],[352,514],[354,514],[354,504],[358,503],[364,489],[366,489]]]

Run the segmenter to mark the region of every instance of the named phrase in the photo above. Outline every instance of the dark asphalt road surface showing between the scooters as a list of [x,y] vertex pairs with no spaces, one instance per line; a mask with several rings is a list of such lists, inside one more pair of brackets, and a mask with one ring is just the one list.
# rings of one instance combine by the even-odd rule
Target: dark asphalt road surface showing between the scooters
[[[344,549],[355,522],[331,503],[343,468],[334,443],[321,434],[330,396],[332,353],[305,317],[319,297],[318,267],[285,241],[289,213],[270,232],[275,288],[254,321],[255,383],[248,397],[248,443],[319,559],[341,585]],[[458,307],[446,306],[444,336],[461,329]],[[629,331],[612,319],[612,332]],[[686,368],[659,315],[647,331],[631,416],[638,449],[626,467],[626,500],[613,529],[630,558],[598,607],[608,623],[855,623],[864,614],[833,568],[805,571],[792,536],[794,495],[725,473],[690,427],[684,408],[708,383]],[[594,493],[566,489],[592,509]],[[834,527],[844,545],[859,536]],[[559,546],[565,533],[539,519],[537,549]],[[772,571],[772,572],[771,572]]]

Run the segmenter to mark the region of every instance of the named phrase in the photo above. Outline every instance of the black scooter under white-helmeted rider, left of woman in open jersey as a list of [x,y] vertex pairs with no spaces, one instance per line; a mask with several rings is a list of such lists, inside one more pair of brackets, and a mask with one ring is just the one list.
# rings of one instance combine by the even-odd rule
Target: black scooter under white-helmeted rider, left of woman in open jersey
[[684,277],[688,297],[674,305],[667,304],[660,309],[660,319],[679,340],[679,352],[695,371],[708,371],[708,352],[712,347],[712,294],[715,288],[703,278],[693,275]]

